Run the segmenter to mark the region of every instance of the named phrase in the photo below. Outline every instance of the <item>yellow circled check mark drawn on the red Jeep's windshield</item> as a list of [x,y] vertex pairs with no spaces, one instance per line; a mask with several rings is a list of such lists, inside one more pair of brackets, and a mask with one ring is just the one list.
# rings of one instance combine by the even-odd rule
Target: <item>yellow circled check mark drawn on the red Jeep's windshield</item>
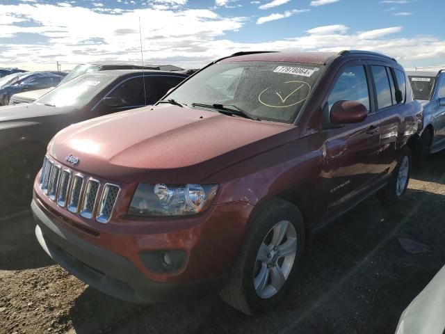
[[280,88],[268,87],[258,95],[258,101],[272,108],[295,106],[307,99],[311,86],[304,81],[285,81]]

